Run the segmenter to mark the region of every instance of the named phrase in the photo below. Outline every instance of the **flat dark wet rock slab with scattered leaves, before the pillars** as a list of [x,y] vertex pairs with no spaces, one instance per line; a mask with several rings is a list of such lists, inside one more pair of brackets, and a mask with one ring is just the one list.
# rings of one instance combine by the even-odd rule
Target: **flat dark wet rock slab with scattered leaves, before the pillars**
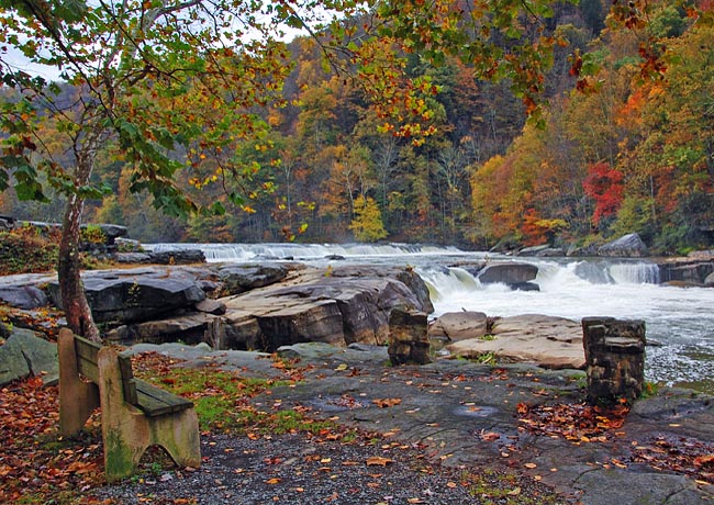
[[[663,416],[643,417],[633,412],[613,439],[574,444],[523,431],[518,422],[521,403],[579,403],[582,392],[574,371],[451,360],[423,367],[334,364],[317,366],[297,388],[276,389],[266,401],[306,405],[339,423],[389,433],[404,444],[425,445],[446,465],[521,471],[584,505],[684,505],[714,500],[711,486],[699,486],[683,474],[642,463],[626,468],[612,463],[629,461],[637,444],[659,434],[711,444],[711,397],[663,391],[637,404]],[[688,425],[681,423],[685,412],[691,416]]]

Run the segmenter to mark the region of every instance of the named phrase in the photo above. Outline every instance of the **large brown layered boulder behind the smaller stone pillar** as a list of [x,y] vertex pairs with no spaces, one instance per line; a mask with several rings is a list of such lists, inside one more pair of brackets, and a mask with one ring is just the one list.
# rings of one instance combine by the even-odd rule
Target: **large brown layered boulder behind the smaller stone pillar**
[[274,284],[222,299],[227,307],[224,345],[274,351],[302,341],[343,347],[386,344],[392,308],[431,310],[431,302],[421,299],[424,282],[409,272],[405,279],[415,287],[410,289],[397,279],[403,271],[392,267],[311,269],[291,280],[291,285]]

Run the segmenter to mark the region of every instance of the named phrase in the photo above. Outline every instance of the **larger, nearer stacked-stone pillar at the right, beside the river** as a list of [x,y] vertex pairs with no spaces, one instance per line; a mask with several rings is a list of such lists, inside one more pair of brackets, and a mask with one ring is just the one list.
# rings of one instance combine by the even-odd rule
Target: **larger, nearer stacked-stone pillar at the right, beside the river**
[[584,317],[582,344],[588,371],[588,402],[628,403],[645,384],[645,322]]

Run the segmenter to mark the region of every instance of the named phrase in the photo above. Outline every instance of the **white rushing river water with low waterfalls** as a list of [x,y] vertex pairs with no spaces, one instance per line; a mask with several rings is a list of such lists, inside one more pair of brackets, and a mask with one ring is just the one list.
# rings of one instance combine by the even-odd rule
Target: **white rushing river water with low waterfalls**
[[[156,244],[155,250],[200,248],[208,261],[250,262],[291,258],[311,265],[412,266],[426,281],[438,316],[480,311],[490,316],[545,314],[580,319],[613,316],[644,319],[647,380],[714,393],[714,289],[659,284],[655,263],[640,260],[511,258],[456,248],[392,244]],[[326,259],[338,255],[344,260]],[[538,267],[540,291],[481,284],[469,265],[523,261]]]

